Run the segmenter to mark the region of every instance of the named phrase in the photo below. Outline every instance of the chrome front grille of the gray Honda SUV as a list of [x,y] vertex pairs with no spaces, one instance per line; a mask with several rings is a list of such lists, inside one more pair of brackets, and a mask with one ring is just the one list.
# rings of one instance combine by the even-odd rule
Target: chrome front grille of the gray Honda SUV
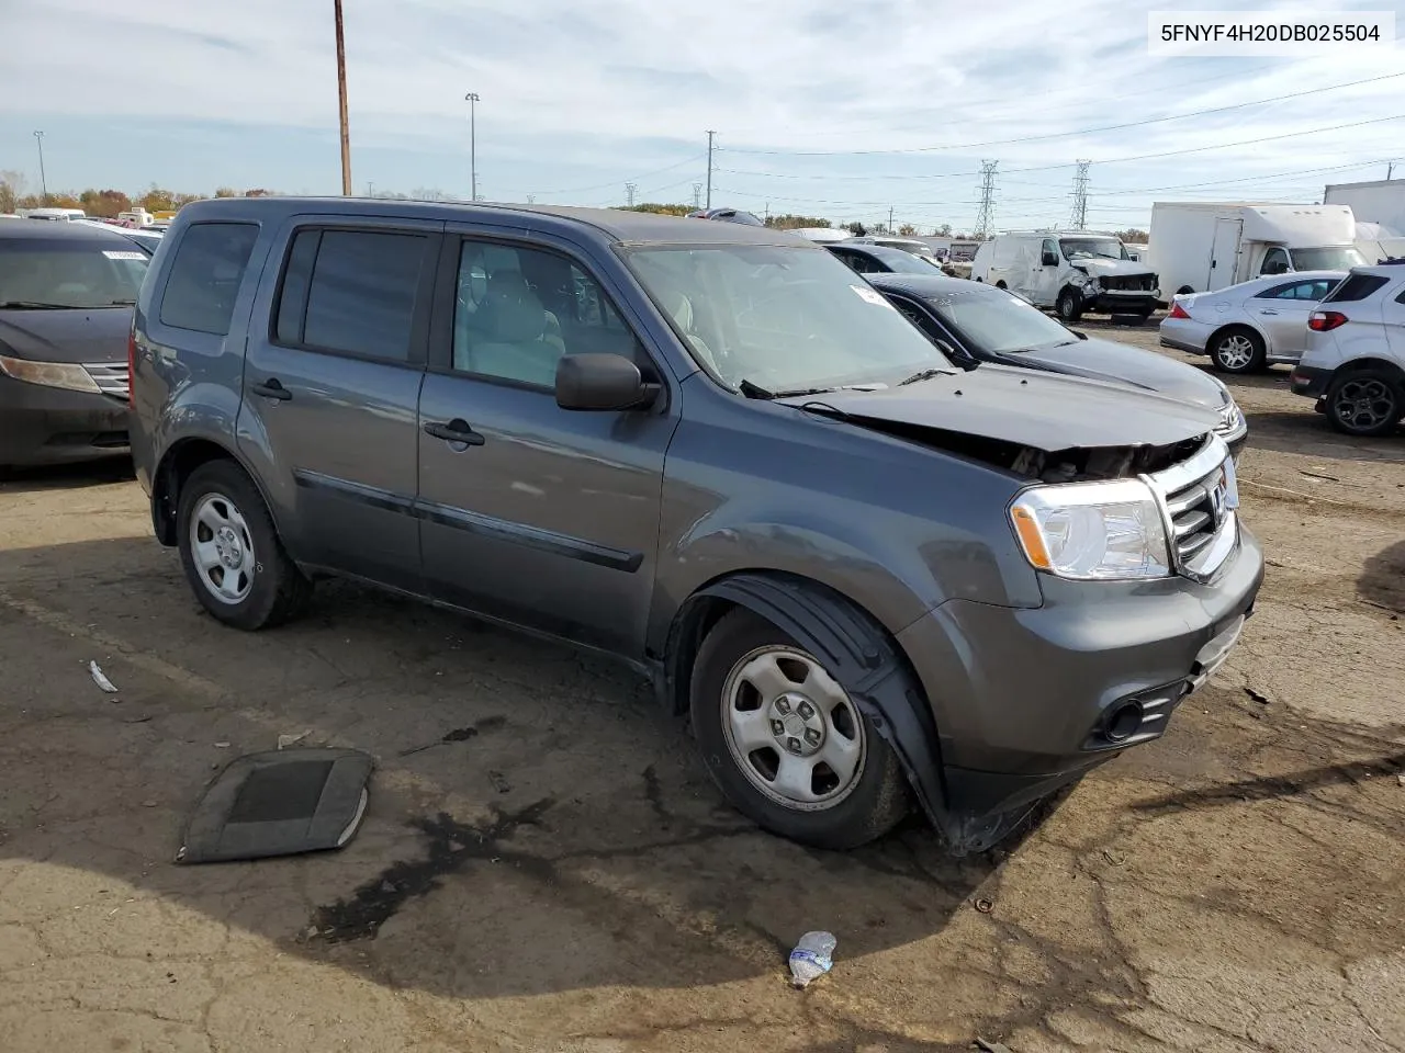
[[1224,441],[1210,439],[1190,461],[1148,482],[1165,508],[1176,570],[1193,578],[1213,576],[1239,543],[1234,468]]

